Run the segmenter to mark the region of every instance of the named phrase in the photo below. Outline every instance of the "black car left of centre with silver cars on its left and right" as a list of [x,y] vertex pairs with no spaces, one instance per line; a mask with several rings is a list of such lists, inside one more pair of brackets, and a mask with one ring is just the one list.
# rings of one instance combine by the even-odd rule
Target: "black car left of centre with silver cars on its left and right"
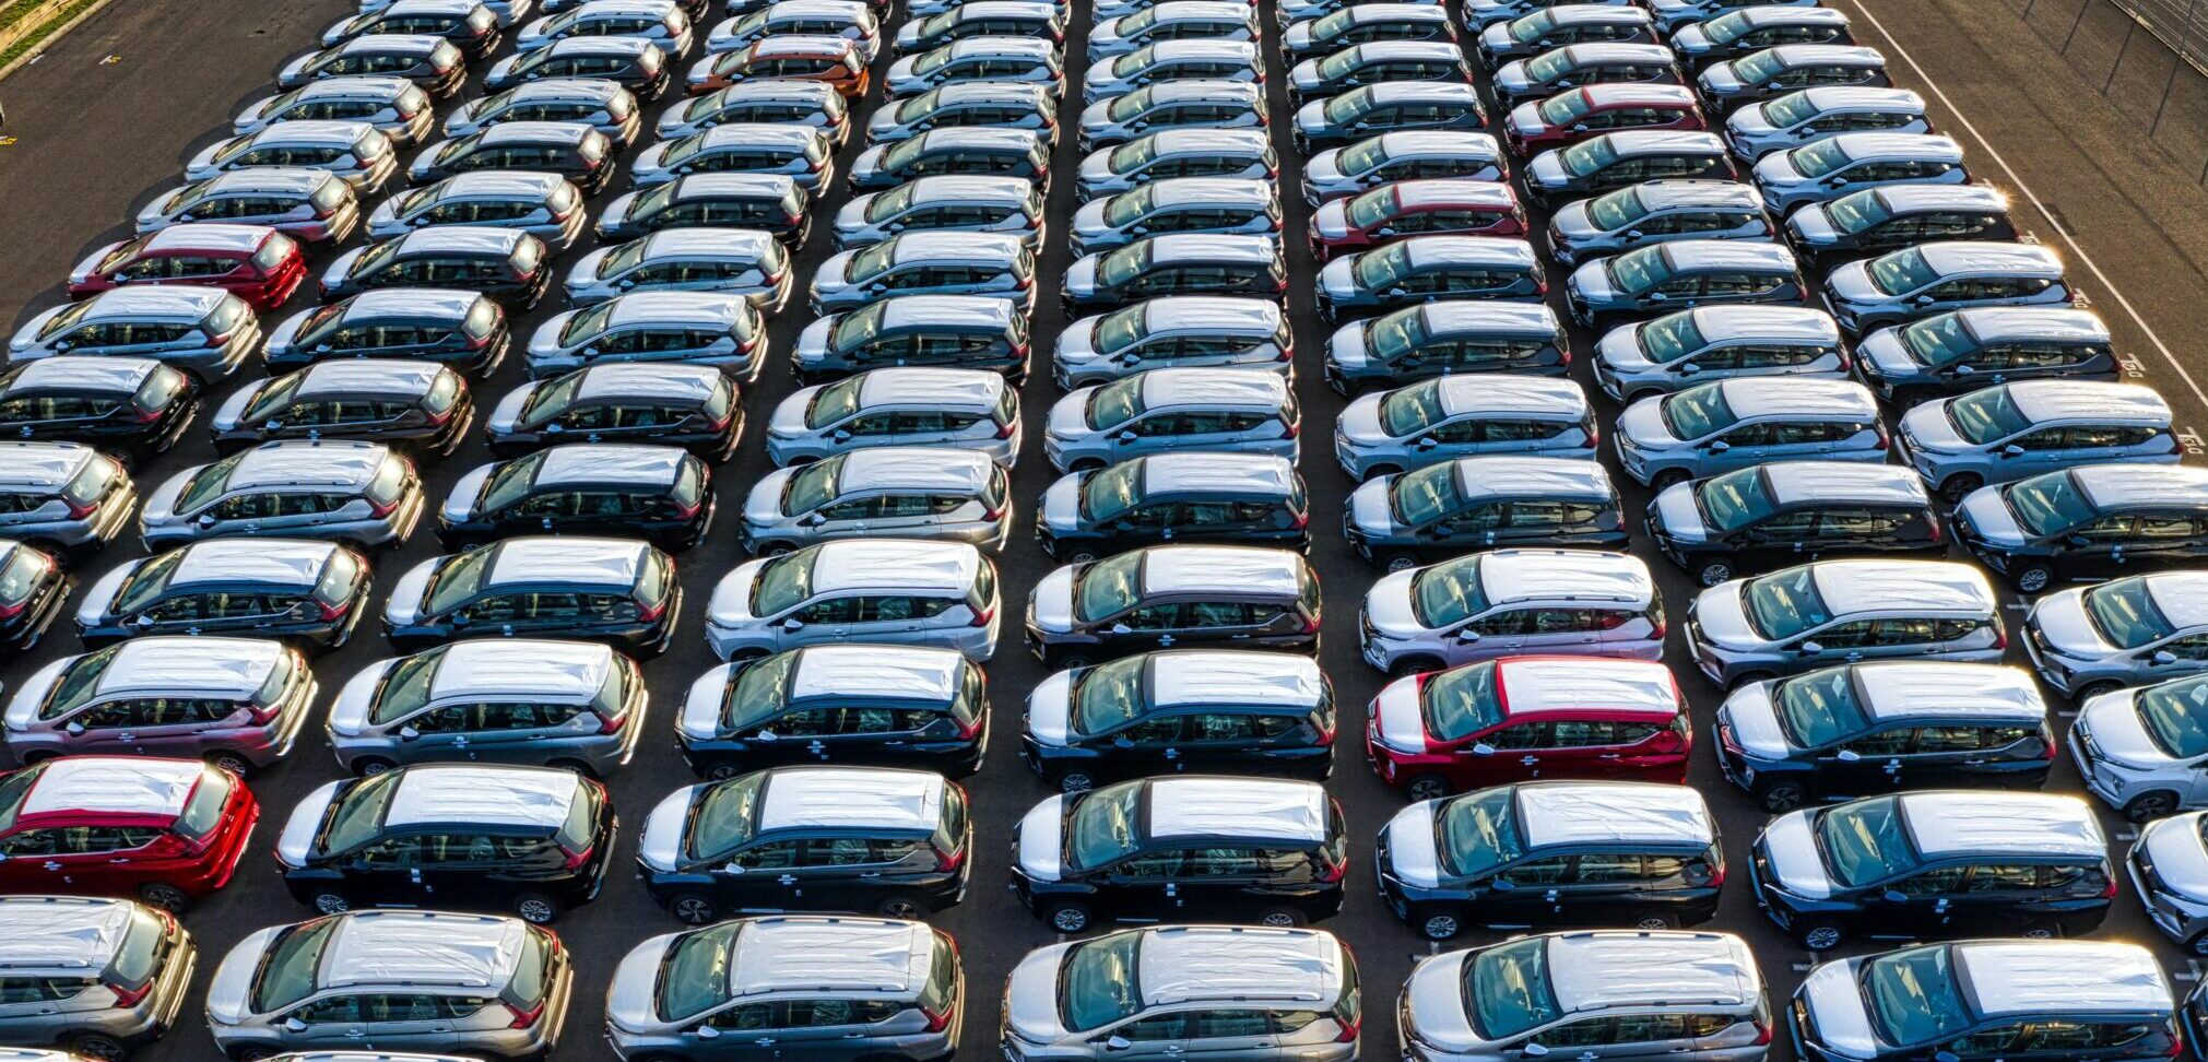
[[512,534],[625,534],[689,550],[713,523],[713,470],[678,446],[565,444],[459,477],[437,510],[450,550]]

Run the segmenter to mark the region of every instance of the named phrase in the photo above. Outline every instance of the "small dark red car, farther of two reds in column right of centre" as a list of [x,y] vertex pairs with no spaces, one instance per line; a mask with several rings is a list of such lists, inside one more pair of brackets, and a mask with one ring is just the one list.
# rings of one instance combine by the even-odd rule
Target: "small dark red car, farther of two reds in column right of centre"
[[1437,177],[1393,181],[1371,192],[1320,203],[1312,212],[1318,261],[1362,252],[1404,236],[1524,236],[1526,210],[1501,181]]

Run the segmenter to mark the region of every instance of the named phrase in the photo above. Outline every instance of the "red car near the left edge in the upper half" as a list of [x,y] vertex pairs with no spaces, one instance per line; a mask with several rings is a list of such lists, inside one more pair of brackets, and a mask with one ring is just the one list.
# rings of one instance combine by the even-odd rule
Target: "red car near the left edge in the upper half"
[[110,243],[68,274],[68,296],[88,298],[124,285],[221,287],[276,309],[307,278],[298,243],[267,225],[190,223]]

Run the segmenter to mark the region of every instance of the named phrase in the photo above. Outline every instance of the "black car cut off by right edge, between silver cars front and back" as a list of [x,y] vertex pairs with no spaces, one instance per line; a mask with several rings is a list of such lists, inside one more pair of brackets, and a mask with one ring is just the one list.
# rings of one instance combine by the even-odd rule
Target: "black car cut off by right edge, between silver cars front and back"
[[2208,468],[2084,464],[1983,486],[1954,508],[1954,537],[2025,594],[2208,556]]

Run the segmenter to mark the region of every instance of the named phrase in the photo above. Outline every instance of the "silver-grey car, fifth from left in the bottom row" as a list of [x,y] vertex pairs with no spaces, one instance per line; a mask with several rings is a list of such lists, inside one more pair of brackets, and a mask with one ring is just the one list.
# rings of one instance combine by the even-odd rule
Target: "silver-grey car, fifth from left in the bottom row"
[[[1548,985],[1539,1007],[1488,1009],[1521,985]],[[1444,952],[1411,967],[1398,1009],[1406,1060],[1570,1053],[1581,1029],[1605,1031],[1601,1058],[1758,1062],[1771,1051],[1764,976],[1733,934],[1581,930]]]

